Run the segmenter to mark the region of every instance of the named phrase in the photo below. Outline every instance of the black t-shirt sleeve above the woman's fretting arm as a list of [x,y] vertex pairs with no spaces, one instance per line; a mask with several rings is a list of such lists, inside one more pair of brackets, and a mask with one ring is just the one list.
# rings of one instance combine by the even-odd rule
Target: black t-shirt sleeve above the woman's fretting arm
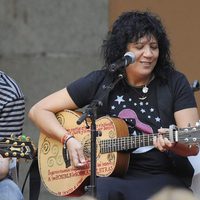
[[197,107],[194,93],[186,78],[180,72],[172,76],[173,93],[174,93],[174,111],[179,111],[186,108]]

